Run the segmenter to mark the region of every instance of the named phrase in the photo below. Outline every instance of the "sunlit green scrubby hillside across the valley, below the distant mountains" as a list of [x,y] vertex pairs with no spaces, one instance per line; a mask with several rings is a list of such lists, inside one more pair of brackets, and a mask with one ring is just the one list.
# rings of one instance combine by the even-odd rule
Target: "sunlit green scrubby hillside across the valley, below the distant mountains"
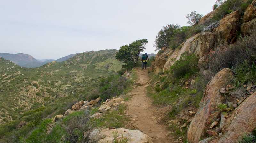
[[59,97],[90,92],[87,88],[92,89],[101,77],[121,69],[121,62],[114,58],[116,52],[84,52],[67,61],[53,61],[38,68],[21,68],[1,58],[0,123]]

